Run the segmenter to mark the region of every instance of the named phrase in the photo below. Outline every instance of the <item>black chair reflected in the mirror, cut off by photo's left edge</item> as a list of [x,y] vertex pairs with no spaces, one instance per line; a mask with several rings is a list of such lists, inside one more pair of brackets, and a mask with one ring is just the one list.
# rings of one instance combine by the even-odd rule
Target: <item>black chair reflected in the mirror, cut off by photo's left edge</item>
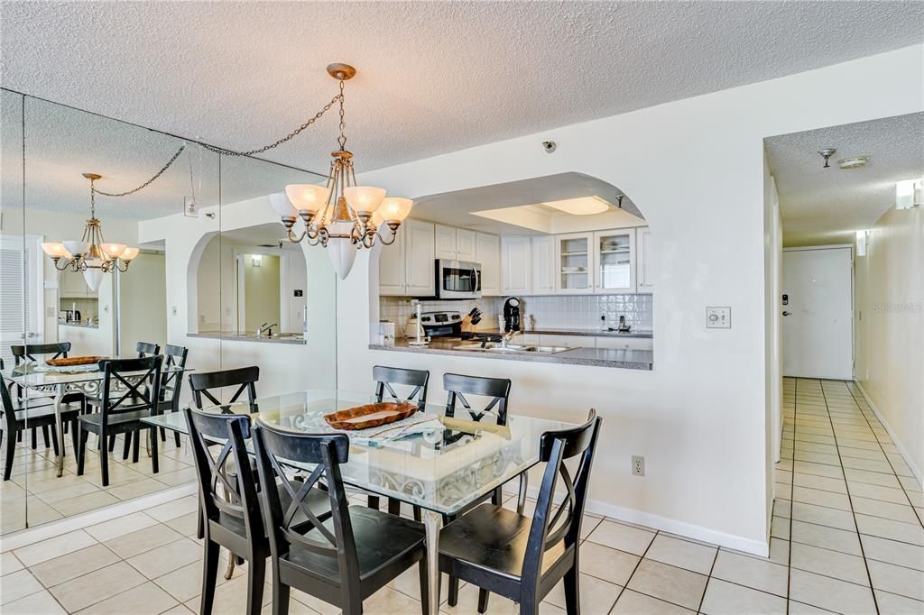
[[[0,362],[0,370],[3,369]],[[55,406],[52,400],[47,397],[18,398],[10,393],[10,382],[0,374],[0,445],[5,445],[4,449],[4,466],[3,479],[9,480],[13,473],[13,459],[16,455],[16,440],[19,433],[27,428],[41,427],[44,429],[51,428],[52,441],[55,444],[55,453],[57,453],[57,426],[55,422]],[[77,417],[82,409],[82,404],[67,403],[61,404],[61,420],[71,425],[71,438],[74,440],[74,451],[77,451]],[[64,442],[61,442],[64,446]]]

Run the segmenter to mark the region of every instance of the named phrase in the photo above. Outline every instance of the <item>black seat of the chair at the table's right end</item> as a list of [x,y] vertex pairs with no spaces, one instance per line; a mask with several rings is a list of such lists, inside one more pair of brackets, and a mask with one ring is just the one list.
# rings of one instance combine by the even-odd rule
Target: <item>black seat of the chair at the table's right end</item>
[[[494,504],[481,504],[440,532],[440,557],[500,573],[516,581],[526,559],[532,519]],[[565,553],[565,541],[545,552],[542,573]],[[442,567],[442,566],[441,566]]]

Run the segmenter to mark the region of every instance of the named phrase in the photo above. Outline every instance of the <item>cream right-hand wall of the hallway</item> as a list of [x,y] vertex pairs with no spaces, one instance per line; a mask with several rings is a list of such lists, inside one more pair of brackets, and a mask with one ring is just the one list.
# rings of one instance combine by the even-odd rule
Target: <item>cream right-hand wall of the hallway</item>
[[886,211],[854,263],[854,374],[921,482],[924,209]]

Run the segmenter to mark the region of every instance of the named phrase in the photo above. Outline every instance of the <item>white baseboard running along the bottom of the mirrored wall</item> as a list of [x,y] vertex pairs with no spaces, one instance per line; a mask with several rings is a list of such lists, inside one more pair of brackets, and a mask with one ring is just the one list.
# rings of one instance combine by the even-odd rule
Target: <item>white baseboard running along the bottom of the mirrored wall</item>
[[141,496],[134,500],[119,502],[118,504],[106,506],[105,508],[100,508],[95,511],[89,511],[87,513],[74,515],[73,517],[67,517],[58,521],[51,521],[47,524],[19,530],[18,532],[0,537],[0,552],[5,553],[6,551],[19,549],[26,545],[47,540],[48,538],[83,529],[84,527],[101,524],[104,521],[110,521],[117,517],[124,517],[127,514],[143,512],[153,506],[198,493],[198,489],[199,487],[196,483],[188,483],[187,485],[180,485],[179,487],[168,488],[163,491],[158,491],[157,493]]

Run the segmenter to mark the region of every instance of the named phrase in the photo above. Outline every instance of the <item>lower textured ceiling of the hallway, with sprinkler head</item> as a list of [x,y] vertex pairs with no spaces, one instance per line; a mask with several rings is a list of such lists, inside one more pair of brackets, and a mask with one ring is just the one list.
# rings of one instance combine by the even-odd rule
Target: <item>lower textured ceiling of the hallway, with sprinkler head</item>
[[[895,182],[924,175],[924,114],[808,130],[765,140],[780,194],[784,245],[852,243],[895,204]],[[831,167],[817,153],[837,148]],[[869,155],[845,170],[836,161]]]

